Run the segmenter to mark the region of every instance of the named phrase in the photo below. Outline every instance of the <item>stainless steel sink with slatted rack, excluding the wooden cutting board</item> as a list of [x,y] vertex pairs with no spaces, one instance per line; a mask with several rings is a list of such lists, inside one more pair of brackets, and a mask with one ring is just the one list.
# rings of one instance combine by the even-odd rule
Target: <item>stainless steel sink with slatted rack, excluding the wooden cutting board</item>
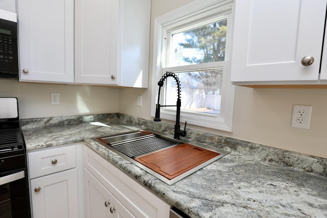
[[[150,134],[145,134],[144,132]],[[110,149],[114,153],[124,157],[126,160],[134,163],[138,167],[141,167],[146,172],[157,177],[158,179],[167,183],[168,185],[172,185],[178,182],[179,180],[185,178],[186,176],[191,175],[192,173],[203,168],[204,166],[222,158],[223,156],[229,153],[228,151],[207,146],[205,144],[189,141],[187,139],[176,140],[168,134],[157,132],[154,130],[149,130],[149,129],[120,133],[120,134],[113,134],[109,136],[99,136],[99,137],[94,137],[92,139],[99,142],[100,144]],[[164,176],[161,176],[160,174],[152,171],[152,169],[134,160],[134,158],[136,157],[150,154],[163,149],[167,149],[173,146],[177,146],[178,144],[181,143],[192,144],[193,146],[197,146],[203,149],[217,152],[220,155],[190,169],[188,172],[185,172],[171,180],[165,178]]]

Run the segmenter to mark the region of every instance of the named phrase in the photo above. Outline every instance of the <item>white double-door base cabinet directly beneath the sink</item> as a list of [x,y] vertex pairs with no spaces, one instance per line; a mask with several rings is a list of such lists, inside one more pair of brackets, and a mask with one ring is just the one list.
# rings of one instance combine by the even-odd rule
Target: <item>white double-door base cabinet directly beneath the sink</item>
[[170,205],[88,147],[84,166],[86,217],[169,217]]

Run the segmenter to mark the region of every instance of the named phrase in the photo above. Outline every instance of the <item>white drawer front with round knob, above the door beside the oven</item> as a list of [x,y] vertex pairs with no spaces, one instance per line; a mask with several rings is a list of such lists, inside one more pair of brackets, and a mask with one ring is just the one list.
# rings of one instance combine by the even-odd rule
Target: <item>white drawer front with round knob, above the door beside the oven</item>
[[28,153],[30,178],[76,167],[76,148],[67,146]]

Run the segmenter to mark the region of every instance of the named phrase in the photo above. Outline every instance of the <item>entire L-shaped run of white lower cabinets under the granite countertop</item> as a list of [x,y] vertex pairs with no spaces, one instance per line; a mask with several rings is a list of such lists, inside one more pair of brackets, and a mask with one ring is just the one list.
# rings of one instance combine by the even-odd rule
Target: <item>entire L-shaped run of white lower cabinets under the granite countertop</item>
[[30,151],[28,167],[34,218],[169,217],[169,204],[84,144]]

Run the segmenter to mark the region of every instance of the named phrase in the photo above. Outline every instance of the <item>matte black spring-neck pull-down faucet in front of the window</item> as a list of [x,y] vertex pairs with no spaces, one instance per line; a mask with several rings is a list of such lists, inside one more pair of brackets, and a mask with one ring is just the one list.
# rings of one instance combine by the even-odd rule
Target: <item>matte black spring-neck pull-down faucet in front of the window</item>
[[[167,77],[173,77],[176,81],[177,84],[177,103],[176,105],[160,105],[159,104],[159,98],[160,98],[160,89],[162,86],[164,86],[164,81]],[[179,79],[176,74],[173,72],[166,72],[164,76],[161,77],[161,79],[158,82],[159,86],[159,92],[158,92],[158,103],[155,105],[155,117],[154,121],[160,122],[160,107],[175,107],[176,106],[176,124],[175,124],[175,130],[174,130],[174,138],[179,139],[179,136],[186,136],[186,122],[184,126],[184,130],[180,130],[180,124],[179,124],[179,119],[180,119],[180,106],[181,106],[181,101],[180,101],[180,84],[179,84]]]

